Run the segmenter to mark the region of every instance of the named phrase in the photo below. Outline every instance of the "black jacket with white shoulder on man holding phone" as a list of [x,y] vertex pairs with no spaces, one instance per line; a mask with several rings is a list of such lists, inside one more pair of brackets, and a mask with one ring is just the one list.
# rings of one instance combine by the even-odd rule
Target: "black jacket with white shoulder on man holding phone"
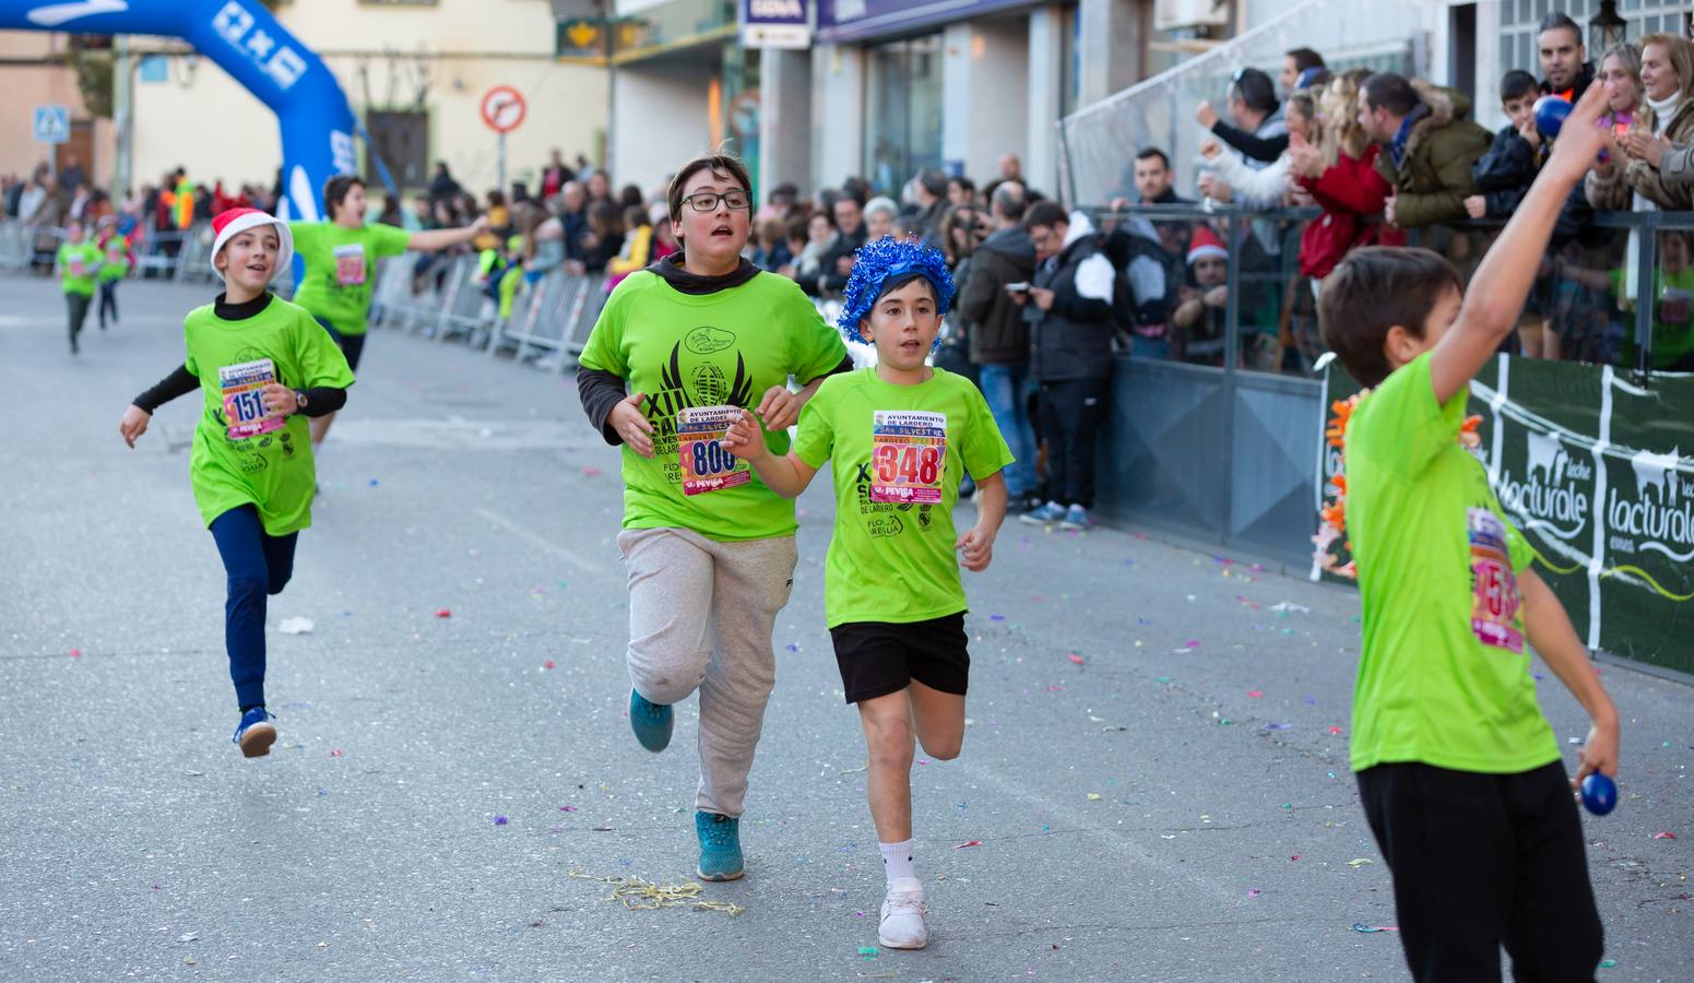
[[[1030,332],[1030,375],[1042,383],[1111,376],[1116,271],[1099,249],[1093,222],[1081,212],[1072,212],[1067,237],[1064,251],[1035,269],[1035,286],[1054,292],[1052,310]],[[1089,268],[1086,273],[1084,266]],[[1077,273],[1104,276],[1106,298],[1082,297]],[[1037,310],[1033,302],[1030,310]]]

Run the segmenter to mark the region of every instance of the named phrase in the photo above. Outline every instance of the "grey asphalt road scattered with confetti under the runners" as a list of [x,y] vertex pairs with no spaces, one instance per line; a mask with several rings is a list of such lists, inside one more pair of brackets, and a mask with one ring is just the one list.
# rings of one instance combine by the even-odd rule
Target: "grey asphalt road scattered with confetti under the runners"
[[[395,332],[320,461],[269,614],[281,737],[244,761],[186,480],[198,403],[134,451],[117,436],[208,297],[125,283],[127,319],[73,359],[56,285],[0,280],[0,978],[1406,976],[1392,932],[1354,929],[1394,925],[1347,771],[1357,597],[1133,529],[1008,524],[967,575],[964,754],[913,768],[932,941],[876,951],[823,483],[776,630],[749,875],[698,895],[740,914],[608,900],[605,878],[693,885],[696,849],[693,703],[659,756],[623,714],[617,453],[567,376]],[[283,636],[290,617],[315,627]],[[1687,980],[1694,690],[1604,678],[1625,781],[1584,819],[1601,980]],[[1552,676],[1543,703],[1562,741],[1586,734]]]

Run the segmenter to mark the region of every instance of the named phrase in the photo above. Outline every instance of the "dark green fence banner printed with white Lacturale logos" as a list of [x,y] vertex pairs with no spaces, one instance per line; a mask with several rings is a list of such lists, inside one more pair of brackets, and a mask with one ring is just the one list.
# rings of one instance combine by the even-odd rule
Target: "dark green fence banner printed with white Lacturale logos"
[[[1326,371],[1325,422],[1359,392]],[[1589,647],[1694,673],[1694,376],[1501,356],[1470,385],[1472,451]],[[1321,442],[1318,507],[1340,453]],[[1345,569],[1320,529],[1313,573]],[[1684,625],[1684,619],[1689,624]]]

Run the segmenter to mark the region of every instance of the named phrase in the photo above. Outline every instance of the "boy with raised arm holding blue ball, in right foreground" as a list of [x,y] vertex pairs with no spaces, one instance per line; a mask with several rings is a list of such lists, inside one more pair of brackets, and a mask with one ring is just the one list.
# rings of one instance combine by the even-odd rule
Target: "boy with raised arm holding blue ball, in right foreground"
[[[1516,329],[1565,197],[1611,142],[1604,107],[1591,86],[1469,293],[1435,253],[1365,247],[1318,300],[1323,341],[1374,386],[1343,447],[1364,603],[1352,768],[1423,981],[1499,980],[1503,944],[1518,980],[1592,980],[1603,954],[1572,786],[1618,771],[1618,710],[1459,437],[1470,378]],[[1592,719],[1574,781],[1525,641]]]

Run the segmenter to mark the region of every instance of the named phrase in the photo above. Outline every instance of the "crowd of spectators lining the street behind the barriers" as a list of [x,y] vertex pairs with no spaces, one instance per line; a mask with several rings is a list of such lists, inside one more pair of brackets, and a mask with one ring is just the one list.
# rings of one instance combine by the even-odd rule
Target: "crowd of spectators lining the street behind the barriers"
[[[1689,232],[1658,230],[1653,281],[1638,283],[1638,230],[1596,224],[1596,212],[1691,208],[1694,44],[1650,34],[1589,53],[1582,29],[1553,12],[1536,49],[1538,75],[1514,68],[1499,80],[1508,120],[1499,132],[1477,124],[1475,105],[1457,90],[1330,66],[1301,47],[1286,53],[1276,80],[1259,68],[1237,71],[1221,114],[1210,102],[1194,108],[1206,132],[1191,185],[1152,146],[1133,154],[1118,195],[1093,214],[1030,188],[1011,154],[983,185],[925,168],[898,197],[862,178],[811,197],[784,183],[762,203],[747,202],[756,208],[747,258],[794,280],[828,312],[867,241],[916,237],[940,249],[959,303],[937,364],[983,388],[1018,459],[1006,483],[1025,517],[1088,525],[1115,353],[1309,373],[1321,354],[1316,298],[1348,251],[1414,242],[1469,273],[1489,225],[1516,208],[1548,158],[1560,105],[1569,110],[1601,85],[1614,149],[1567,200],[1506,347],[1633,364],[1635,310],[1645,303],[1652,364],[1694,369]],[[269,210],[280,193],[276,185],[208,188],[178,168],[113,202],[75,158],[56,175],[42,166],[27,180],[0,180],[7,219],[42,234],[78,222],[125,237],[136,253],[164,254],[197,222],[235,205]],[[1233,208],[1220,214],[1220,205]],[[534,188],[515,183],[481,198],[437,163],[424,193],[410,203],[386,197],[376,220],[430,230],[479,217],[490,230],[468,249],[481,254],[484,288],[507,310],[525,283],[552,271],[591,276],[608,293],[678,251],[662,185],[615,186],[586,156],[567,163],[559,151]],[[424,258],[418,286],[446,266]]]

